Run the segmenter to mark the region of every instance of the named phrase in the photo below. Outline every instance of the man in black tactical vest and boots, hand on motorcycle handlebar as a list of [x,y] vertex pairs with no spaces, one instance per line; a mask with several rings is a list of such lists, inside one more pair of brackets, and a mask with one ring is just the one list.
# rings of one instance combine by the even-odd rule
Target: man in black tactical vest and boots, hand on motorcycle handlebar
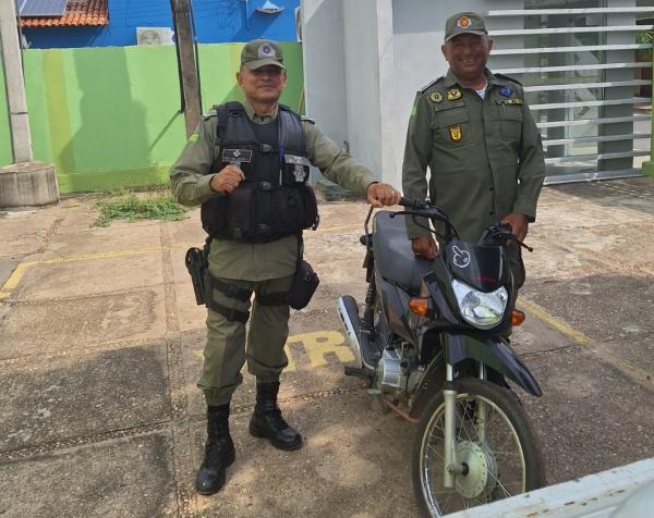
[[171,172],[175,199],[202,205],[203,227],[211,237],[207,343],[198,382],[208,407],[205,458],[195,481],[201,494],[219,491],[226,468],[234,461],[229,405],[245,361],[256,377],[250,433],[280,449],[302,446],[301,435],[281,416],[277,393],[288,363],[286,293],[298,263],[299,234],[318,221],[306,184],[310,163],[365,195],[374,207],[400,199],[310,120],[278,104],[287,84],[279,45],[263,39],[246,44],[237,79],[245,102],[215,107]]

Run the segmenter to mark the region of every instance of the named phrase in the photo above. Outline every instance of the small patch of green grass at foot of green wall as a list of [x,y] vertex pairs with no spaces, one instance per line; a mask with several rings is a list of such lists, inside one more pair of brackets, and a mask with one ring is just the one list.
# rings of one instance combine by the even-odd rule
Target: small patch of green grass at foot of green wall
[[112,220],[180,221],[186,218],[189,211],[170,196],[142,199],[135,193],[125,194],[114,200],[98,201],[94,209],[100,212],[100,215],[92,226],[109,226]]

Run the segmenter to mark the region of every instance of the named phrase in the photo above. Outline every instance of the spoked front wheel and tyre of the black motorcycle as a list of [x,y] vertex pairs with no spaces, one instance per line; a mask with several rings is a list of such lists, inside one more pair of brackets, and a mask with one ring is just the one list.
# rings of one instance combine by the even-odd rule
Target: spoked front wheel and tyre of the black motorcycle
[[517,396],[487,381],[460,379],[457,391],[456,459],[463,473],[444,486],[445,403],[434,396],[417,424],[411,472],[423,516],[488,504],[545,484],[533,428]]

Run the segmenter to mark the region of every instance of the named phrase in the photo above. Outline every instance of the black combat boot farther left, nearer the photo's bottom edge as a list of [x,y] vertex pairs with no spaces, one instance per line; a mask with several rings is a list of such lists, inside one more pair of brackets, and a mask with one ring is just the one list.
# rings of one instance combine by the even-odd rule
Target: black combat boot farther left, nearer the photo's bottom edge
[[234,443],[229,435],[229,405],[207,409],[205,458],[195,477],[195,491],[210,495],[225,485],[225,470],[235,459]]

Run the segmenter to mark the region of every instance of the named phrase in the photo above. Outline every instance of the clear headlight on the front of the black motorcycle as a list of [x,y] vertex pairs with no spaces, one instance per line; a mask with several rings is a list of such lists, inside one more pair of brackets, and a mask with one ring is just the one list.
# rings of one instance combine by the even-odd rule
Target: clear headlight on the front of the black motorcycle
[[467,322],[480,329],[493,328],[499,323],[509,298],[504,286],[495,292],[484,293],[453,279],[452,289],[461,316]]

